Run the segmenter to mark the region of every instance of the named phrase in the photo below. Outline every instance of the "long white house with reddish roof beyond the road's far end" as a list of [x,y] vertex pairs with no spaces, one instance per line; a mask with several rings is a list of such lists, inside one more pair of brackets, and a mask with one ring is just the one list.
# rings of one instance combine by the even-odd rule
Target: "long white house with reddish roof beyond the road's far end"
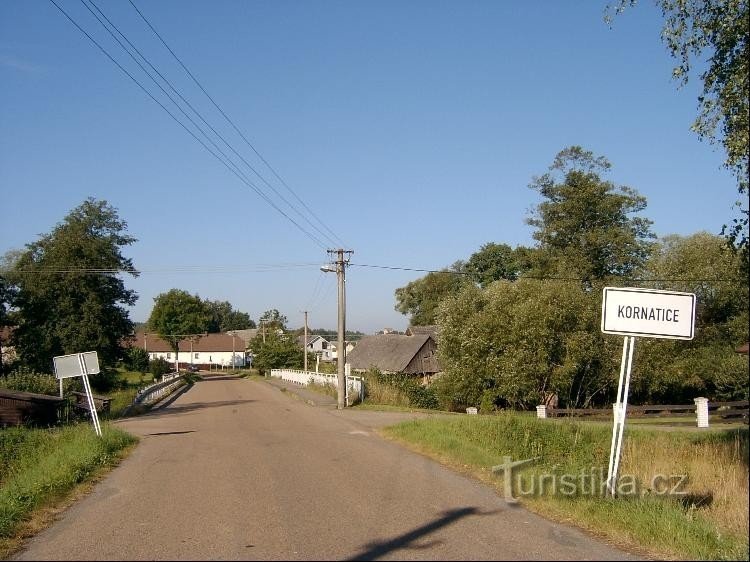
[[178,362],[180,368],[195,365],[200,369],[211,367],[244,367],[247,364],[245,341],[232,334],[205,334],[185,338],[178,344],[179,353],[156,334],[144,331],[128,340],[128,347],[141,347],[148,352],[149,359],[165,359]]

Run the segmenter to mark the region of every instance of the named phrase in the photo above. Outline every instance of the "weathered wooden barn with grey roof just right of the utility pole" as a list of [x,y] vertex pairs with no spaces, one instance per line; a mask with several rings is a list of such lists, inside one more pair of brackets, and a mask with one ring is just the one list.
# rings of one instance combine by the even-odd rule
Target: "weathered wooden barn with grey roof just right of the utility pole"
[[422,375],[428,382],[440,372],[437,342],[429,334],[378,334],[365,336],[347,355],[355,371],[376,368],[386,373]]

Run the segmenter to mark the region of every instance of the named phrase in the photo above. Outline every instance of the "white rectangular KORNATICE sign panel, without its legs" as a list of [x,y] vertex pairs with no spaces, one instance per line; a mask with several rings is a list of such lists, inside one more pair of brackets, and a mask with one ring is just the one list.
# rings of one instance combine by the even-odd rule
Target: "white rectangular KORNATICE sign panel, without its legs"
[[695,335],[695,294],[605,287],[602,332],[692,340]]

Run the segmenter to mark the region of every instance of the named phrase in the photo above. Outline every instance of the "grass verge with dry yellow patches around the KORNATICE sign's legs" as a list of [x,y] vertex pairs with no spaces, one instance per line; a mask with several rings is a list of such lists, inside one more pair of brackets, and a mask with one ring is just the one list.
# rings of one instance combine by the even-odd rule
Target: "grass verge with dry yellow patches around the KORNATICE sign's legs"
[[[620,470],[628,487],[614,500],[600,493],[608,427],[509,413],[414,420],[382,432],[503,494],[505,482],[492,467],[505,457],[536,459],[512,473],[511,489],[521,504],[625,548],[661,558],[748,559],[747,429],[628,429]],[[571,475],[572,487],[563,487],[563,475]],[[666,480],[655,481],[656,475]],[[677,484],[673,475],[687,476],[677,489],[681,494],[661,493]]]

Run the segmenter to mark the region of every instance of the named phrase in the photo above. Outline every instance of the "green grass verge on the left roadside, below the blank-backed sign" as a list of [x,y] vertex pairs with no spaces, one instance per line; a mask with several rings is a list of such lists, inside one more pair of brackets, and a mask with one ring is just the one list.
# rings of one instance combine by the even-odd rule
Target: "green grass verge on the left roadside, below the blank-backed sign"
[[115,466],[137,441],[107,424],[102,432],[97,437],[89,424],[0,430],[0,558],[18,548],[45,513]]

